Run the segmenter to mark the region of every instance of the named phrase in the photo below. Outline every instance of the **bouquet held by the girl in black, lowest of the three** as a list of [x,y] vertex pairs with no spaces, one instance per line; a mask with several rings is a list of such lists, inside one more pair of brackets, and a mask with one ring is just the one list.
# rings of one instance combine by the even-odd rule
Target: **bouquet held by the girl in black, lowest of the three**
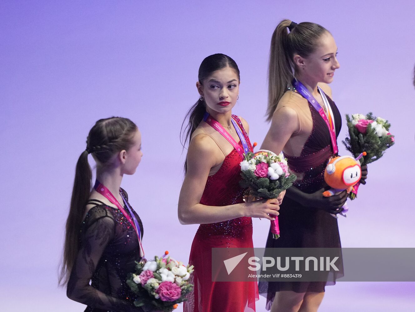
[[127,284],[137,299],[136,307],[168,312],[177,308],[178,303],[186,301],[185,296],[193,290],[188,282],[193,273],[192,266],[184,266],[173,258],[154,257],[145,264],[136,262],[136,271],[130,274]]

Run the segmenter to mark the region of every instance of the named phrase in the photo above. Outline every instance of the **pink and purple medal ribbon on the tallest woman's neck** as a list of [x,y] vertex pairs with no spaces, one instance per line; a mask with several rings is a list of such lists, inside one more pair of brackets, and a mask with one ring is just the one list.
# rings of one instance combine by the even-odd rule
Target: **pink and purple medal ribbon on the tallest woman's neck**
[[[310,91],[308,91],[308,89],[300,81],[294,78],[293,86],[298,91],[298,93],[301,94],[315,108],[315,110],[317,110],[317,112],[326,122],[327,128],[329,129],[329,133],[330,133],[330,139],[332,140],[333,153],[337,154],[339,152],[339,149],[337,148],[336,130],[334,129],[334,121],[332,118],[332,114],[330,112],[331,110],[330,106],[327,105],[328,103],[327,104],[325,103],[327,114],[328,114],[327,116],[324,112],[324,109],[320,106],[320,103],[317,102],[317,100],[314,98],[314,96],[312,96]],[[327,98],[324,92],[322,91],[322,89],[320,89],[320,87],[318,87],[318,89],[320,90],[320,94],[321,94],[323,101],[326,102]],[[330,121],[327,117],[330,118]]]

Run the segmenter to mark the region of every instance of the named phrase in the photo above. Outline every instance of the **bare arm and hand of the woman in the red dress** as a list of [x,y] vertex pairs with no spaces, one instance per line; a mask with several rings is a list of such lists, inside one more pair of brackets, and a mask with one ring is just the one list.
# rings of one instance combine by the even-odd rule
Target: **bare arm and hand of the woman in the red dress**
[[[223,161],[216,143],[206,135],[198,135],[190,143],[187,154],[187,173],[178,202],[178,218],[181,224],[216,223],[242,216],[273,219],[278,215],[276,199],[227,206],[200,204],[210,169]],[[222,160],[221,160],[222,158]]]

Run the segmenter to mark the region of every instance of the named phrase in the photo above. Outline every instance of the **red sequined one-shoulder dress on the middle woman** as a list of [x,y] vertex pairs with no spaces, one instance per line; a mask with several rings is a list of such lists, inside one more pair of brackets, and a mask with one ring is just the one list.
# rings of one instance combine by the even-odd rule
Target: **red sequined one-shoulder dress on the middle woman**
[[[242,122],[232,115],[242,129],[252,150]],[[242,146],[242,143],[239,142]],[[207,178],[200,204],[226,206],[243,202],[244,190],[239,186],[241,179],[239,163],[241,157],[233,149],[223,161],[219,171]],[[252,312],[259,299],[256,281],[212,282],[212,248],[253,248],[252,220],[249,217],[228,221],[200,224],[190,250],[189,263],[195,266],[194,290],[184,302],[184,312]]]

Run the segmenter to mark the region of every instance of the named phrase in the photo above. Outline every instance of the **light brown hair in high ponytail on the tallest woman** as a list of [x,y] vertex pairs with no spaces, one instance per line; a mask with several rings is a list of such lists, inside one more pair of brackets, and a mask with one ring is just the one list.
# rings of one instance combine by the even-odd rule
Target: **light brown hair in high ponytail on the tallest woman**
[[[290,32],[288,33],[288,30]],[[268,108],[266,119],[269,121],[278,105],[278,101],[291,86],[295,73],[294,54],[306,58],[320,44],[320,38],[328,32],[319,24],[303,22],[296,24],[289,19],[282,20],[274,30],[268,67]]]

